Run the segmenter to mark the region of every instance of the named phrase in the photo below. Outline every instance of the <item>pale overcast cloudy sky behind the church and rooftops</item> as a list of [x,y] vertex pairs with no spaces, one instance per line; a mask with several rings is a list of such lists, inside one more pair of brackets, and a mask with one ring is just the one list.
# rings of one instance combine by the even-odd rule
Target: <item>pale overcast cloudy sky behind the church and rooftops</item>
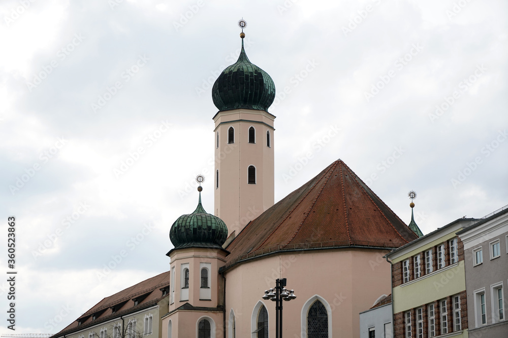
[[55,333],[167,271],[197,174],[213,210],[210,88],[242,17],[277,90],[276,201],[340,158],[405,222],[415,190],[424,233],[508,204],[505,1],[3,0],[0,270],[14,215],[16,333]]

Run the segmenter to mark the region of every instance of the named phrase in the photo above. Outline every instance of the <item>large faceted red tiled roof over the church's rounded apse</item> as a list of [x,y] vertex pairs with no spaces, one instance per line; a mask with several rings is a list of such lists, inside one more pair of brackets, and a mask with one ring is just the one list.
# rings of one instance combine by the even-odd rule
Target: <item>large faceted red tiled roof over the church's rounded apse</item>
[[418,236],[342,161],[247,224],[227,247],[225,268],[279,250],[397,248]]

